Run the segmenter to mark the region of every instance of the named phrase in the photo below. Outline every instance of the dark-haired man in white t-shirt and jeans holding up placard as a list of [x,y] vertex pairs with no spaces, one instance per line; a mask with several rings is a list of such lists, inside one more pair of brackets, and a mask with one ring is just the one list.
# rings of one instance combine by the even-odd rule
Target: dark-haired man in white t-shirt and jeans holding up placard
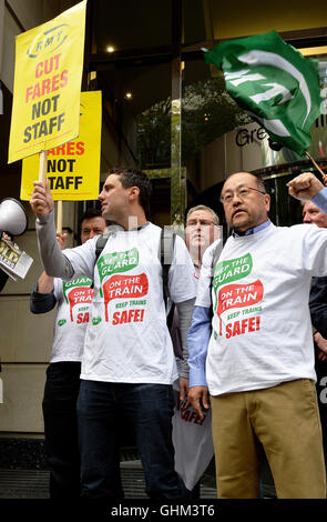
[[[94,281],[78,401],[85,499],[114,499],[120,413],[134,430],[149,495],[177,499],[184,494],[172,444],[172,383],[178,375],[163,299],[161,229],[146,218],[150,193],[143,172],[111,170],[99,200],[102,215],[123,231],[109,237],[98,260],[95,240],[63,254],[55,244],[48,183],[34,182],[31,198],[47,273],[67,280],[83,274]],[[184,343],[196,293],[192,271],[187,249],[176,237],[168,289]]]

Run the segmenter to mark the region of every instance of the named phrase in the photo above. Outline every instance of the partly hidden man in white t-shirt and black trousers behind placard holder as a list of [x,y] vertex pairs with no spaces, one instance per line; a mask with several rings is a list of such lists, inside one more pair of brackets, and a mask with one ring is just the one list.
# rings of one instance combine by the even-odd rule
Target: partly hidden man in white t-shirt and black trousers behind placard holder
[[[105,230],[101,211],[89,209],[80,225],[82,244]],[[58,233],[63,249],[67,234]],[[58,304],[54,337],[42,402],[45,454],[50,470],[52,499],[80,498],[80,453],[76,401],[80,390],[81,359],[89,323],[92,280],[78,278],[67,284],[43,272],[33,288],[30,308],[45,313]]]

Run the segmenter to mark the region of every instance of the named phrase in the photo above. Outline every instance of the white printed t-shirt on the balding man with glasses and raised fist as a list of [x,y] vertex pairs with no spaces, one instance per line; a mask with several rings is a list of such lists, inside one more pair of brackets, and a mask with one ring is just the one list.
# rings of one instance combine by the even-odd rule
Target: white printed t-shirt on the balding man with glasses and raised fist
[[327,230],[311,224],[231,237],[208,288],[214,248],[203,258],[196,305],[213,303],[206,359],[212,395],[316,380],[310,279],[327,273]]

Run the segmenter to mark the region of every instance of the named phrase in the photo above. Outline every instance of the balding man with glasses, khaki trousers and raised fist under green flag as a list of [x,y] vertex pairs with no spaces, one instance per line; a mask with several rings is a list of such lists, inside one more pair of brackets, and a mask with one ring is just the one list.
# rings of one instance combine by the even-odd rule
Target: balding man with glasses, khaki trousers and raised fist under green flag
[[[313,174],[288,185],[327,209]],[[222,201],[233,234],[213,270],[204,254],[188,332],[188,396],[202,415],[210,390],[218,496],[259,496],[259,442],[278,498],[326,498],[308,297],[311,277],[327,273],[327,231],[275,227],[248,172],[226,180]]]

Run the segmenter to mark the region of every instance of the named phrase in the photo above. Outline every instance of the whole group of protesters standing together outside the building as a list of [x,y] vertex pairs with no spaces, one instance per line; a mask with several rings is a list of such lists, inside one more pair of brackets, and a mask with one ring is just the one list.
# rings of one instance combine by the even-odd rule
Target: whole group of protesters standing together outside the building
[[276,227],[262,179],[227,178],[225,244],[216,213],[192,208],[185,241],[165,239],[165,295],[142,171],[109,173],[101,213],[82,217],[72,249],[57,234],[49,183],[34,182],[44,272],[31,311],[58,304],[43,398],[52,498],[123,498],[121,422],[152,499],[200,498],[213,454],[218,498],[258,498],[262,449],[278,498],[326,498],[316,383],[327,359],[327,188],[304,173],[288,190],[307,201],[304,224]]

